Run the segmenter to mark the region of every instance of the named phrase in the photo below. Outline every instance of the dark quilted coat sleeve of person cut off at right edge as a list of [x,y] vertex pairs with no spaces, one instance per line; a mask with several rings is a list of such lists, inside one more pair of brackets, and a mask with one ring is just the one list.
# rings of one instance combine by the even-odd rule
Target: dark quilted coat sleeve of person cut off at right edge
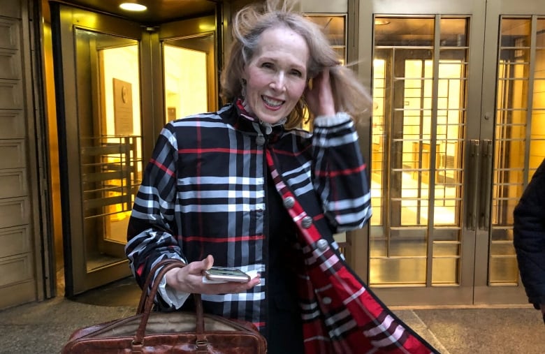
[[514,209],[513,242],[528,301],[545,304],[545,160]]

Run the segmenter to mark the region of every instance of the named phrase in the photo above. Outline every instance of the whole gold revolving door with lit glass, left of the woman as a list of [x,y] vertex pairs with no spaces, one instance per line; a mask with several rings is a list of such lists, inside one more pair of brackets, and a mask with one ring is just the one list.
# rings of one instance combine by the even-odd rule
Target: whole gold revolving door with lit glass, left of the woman
[[143,27],[52,2],[65,291],[129,276],[126,228],[166,121],[216,110],[215,16]]

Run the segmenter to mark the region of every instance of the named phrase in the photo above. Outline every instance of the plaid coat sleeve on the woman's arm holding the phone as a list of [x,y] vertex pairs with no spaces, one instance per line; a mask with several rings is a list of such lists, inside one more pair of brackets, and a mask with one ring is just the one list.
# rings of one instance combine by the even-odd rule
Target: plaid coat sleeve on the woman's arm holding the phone
[[133,203],[125,253],[140,287],[163,258],[184,260],[175,237],[177,143],[170,125],[161,131]]

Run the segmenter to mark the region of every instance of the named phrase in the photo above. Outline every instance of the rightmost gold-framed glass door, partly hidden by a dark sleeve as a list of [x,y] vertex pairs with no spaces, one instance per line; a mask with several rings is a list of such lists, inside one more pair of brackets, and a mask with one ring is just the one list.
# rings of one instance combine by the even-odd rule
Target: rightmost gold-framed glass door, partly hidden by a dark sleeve
[[545,157],[545,8],[539,0],[488,1],[486,24],[474,303],[527,303],[513,209]]

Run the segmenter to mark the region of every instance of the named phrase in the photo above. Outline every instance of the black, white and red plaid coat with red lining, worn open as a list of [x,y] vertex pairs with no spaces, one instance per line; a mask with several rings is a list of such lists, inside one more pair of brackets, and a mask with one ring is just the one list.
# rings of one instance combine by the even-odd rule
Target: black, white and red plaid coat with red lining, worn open
[[[370,189],[354,123],[317,119],[312,135],[265,127],[239,105],[168,123],[147,165],[126,253],[142,286],[162,258],[212,254],[261,272],[247,293],[202,295],[205,311],[266,326],[266,179],[298,230],[299,298],[307,353],[432,353],[344,262],[333,233],[370,218]],[[270,175],[268,173],[270,171]]]

